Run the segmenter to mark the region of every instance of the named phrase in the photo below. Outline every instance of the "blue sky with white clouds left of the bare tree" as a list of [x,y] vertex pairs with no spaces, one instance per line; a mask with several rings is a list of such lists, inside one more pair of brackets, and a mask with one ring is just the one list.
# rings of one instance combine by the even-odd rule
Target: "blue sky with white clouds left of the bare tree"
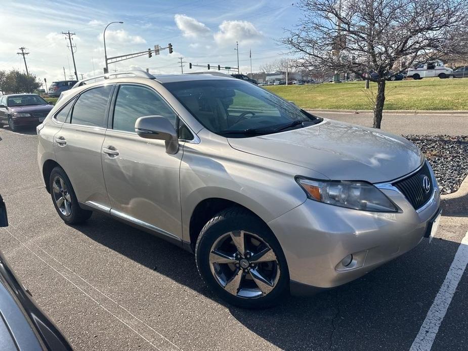
[[[106,31],[108,56],[166,47],[174,53],[147,56],[109,66],[109,71],[149,68],[151,73],[180,73],[179,57],[188,62],[236,66],[239,41],[241,71],[257,71],[266,62],[285,57],[287,49],[276,39],[301,15],[290,1],[281,0],[173,0],[173,1],[30,1],[0,0],[0,69],[24,70],[18,48],[26,47],[28,69],[49,81],[73,74],[71,54],[62,31],[75,32],[76,68],[84,77],[102,73]],[[197,69],[198,70],[198,69]]]

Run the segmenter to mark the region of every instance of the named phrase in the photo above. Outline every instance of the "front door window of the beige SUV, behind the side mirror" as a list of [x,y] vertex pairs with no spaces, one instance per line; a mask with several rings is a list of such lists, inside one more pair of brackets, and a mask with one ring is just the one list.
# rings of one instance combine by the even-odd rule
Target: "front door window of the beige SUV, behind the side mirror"
[[113,129],[135,133],[135,122],[139,117],[156,115],[176,124],[176,113],[155,91],[139,85],[120,86],[115,101]]

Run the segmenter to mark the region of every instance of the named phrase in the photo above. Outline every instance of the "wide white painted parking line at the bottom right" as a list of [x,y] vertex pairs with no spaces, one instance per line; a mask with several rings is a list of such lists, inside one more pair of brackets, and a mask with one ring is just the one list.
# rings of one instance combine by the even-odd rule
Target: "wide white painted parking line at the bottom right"
[[460,246],[455,253],[452,265],[450,266],[444,283],[429,309],[426,319],[419,329],[419,333],[411,345],[410,351],[429,351],[436,339],[440,324],[444,320],[453,294],[457,288],[458,282],[463,275],[468,264],[468,232],[461,240]]

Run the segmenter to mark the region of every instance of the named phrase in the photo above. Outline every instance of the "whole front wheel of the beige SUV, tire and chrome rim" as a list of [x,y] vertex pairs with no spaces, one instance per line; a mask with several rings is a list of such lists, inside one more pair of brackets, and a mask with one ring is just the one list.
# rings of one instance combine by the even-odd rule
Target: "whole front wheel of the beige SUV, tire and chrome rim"
[[241,207],[219,212],[203,227],[195,247],[198,271],[225,301],[242,308],[268,308],[288,292],[281,246],[258,217]]

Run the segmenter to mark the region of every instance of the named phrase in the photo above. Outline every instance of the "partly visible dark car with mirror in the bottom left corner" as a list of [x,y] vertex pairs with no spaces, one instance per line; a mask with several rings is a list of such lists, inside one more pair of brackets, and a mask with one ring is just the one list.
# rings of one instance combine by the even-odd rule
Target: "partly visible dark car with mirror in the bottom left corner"
[[[0,227],[8,226],[0,195]],[[0,349],[2,351],[71,350],[67,339],[36,306],[0,252]]]

